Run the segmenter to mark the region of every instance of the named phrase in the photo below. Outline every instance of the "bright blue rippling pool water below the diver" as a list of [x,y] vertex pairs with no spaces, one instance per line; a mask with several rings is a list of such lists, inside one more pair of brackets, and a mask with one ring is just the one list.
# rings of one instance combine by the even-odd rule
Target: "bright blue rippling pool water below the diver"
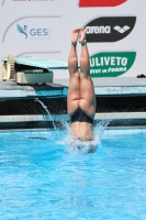
[[104,132],[91,154],[57,132],[0,133],[0,219],[146,219],[146,131]]

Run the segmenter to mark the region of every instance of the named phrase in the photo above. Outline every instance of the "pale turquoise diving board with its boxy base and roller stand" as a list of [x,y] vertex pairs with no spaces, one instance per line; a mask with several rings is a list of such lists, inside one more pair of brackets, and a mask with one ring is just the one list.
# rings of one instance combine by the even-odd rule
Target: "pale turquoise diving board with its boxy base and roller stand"
[[2,79],[15,79],[20,85],[53,82],[54,69],[68,69],[67,62],[44,57],[2,58]]

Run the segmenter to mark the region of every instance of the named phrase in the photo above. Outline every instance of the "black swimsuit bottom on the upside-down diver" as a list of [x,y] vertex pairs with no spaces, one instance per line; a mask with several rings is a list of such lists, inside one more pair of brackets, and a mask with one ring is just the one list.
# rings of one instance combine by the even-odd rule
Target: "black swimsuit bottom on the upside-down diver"
[[76,121],[93,124],[93,119],[87,116],[80,108],[78,108],[77,111],[70,117],[71,123]]

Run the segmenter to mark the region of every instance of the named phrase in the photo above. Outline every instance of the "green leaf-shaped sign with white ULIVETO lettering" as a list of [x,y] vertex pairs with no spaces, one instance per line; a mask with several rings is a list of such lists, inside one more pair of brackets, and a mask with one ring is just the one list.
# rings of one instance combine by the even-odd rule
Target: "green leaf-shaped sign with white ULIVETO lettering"
[[108,52],[90,57],[91,77],[117,77],[134,64],[136,52]]

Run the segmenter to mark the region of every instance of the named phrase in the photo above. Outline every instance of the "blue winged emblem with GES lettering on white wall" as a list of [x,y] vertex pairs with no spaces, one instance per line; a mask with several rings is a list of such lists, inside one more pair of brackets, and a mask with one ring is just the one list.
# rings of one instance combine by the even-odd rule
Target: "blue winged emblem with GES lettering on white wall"
[[32,36],[34,38],[40,37],[40,36],[48,36],[49,35],[49,30],[48,29],[27,29],[27,25],[24,25],[23,28],[20,26],[20,24],[16,25],[18,31],[21,34],[24,34],[25,38],[29,38],[29,36]]

